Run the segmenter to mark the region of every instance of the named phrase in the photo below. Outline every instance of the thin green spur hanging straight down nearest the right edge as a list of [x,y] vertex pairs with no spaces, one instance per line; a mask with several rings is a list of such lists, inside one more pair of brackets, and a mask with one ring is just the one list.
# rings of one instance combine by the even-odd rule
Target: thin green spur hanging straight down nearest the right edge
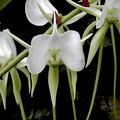
[[113,86],[114,114],[115,114],[116,120],[118,120],[117,111],[116,111],[117,56],[116,56],[116,46],[115,46],[115,36],[114,36],[113,25],[110,26],[110,31],[111,31],[113,57],[114,57],[114,86]]

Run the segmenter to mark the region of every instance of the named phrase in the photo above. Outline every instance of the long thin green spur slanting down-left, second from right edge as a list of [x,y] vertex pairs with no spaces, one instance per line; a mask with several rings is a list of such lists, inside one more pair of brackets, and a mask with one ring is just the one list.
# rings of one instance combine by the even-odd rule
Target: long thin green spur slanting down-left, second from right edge
[[97,65],[97,73],[96,73],[96,78],[95,78],[95,85],[94,85],[92,100],[91,100],[91,104],[90,104],[90,108],[89,108],[89,112],[88,112],[86,120],[89,120],[89,118],[90,118],[90,115],[91,115],[91,112],[93,109],[93,105],[94,105],[94,101],[95,101],[95,96],[96,96],[98,82],[99,82],[99,76],[100,76],[101,63],[102,63],[103,46],[104,46],[104,41],[102,41],[102,43],[100,45],[99,56],[98,56],[98,65]]

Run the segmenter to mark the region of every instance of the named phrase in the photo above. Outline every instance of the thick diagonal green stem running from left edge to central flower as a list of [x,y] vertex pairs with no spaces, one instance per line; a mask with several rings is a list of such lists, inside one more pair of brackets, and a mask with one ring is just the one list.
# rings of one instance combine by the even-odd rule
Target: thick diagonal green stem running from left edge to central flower
[[0,70],[0,77],[7,73],[11,68],[13,68],[17,63],[19,63],[23,58],[28,55],[28,50],[21,52],[16,58],[14,58],[7,66]]

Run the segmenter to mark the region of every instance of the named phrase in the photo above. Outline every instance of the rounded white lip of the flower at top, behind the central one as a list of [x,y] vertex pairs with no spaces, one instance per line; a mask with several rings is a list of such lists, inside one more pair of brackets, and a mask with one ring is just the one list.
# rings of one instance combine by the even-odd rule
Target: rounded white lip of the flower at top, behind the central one
[[57,10],[52,6],[49,0],[27,0],[25,4],[25,13],[28,20],[37,26],[45,25],[48,20],[41,13],[38,4],[52,18],[53,12]]

